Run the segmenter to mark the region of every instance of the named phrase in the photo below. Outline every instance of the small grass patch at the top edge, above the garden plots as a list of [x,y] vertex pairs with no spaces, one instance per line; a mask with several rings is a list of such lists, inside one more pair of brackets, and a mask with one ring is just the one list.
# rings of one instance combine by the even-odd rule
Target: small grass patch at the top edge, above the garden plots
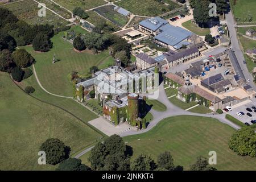
[[54,2],[58,3],[59,5],[67,8],[68,10],[73,11],[75,7],[81,7],[84,10],[92,9],[93,7],[101,6],[106,4],[103,0],[54,0]]

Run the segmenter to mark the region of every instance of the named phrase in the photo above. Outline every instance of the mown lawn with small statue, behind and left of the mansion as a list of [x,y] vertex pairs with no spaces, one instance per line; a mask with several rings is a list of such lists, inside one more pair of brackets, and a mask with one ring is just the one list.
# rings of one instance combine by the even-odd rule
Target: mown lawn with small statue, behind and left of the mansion
[[[36,53],[32,47],[26,46],[28,52],[35,58],[36,72],[41,84],[49,92],[63,96],[72,96],[72,82],[70,74],[77,71],[80,75],[88,76],[89,68],[96,65],[98,68],[108,67],[114,63],[113,57],[108,51],[93,55],[90,52],[77,53],[73,51],[73,45],[61,38],[63,33],[52,38],[53,48],[49,52]],[[59,59],[52,64],[52,56],[56,54]]]

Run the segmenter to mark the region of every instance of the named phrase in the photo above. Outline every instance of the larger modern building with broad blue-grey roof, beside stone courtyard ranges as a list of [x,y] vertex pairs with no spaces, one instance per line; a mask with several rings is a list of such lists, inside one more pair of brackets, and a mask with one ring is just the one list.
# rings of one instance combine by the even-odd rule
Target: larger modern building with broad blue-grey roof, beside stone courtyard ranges
[[[172,49],[172,47],[179,49],[183,43],[188,45],[187,39],[192,35],[192,32],[181,27],[175,27],[171,24],[166,24],[159,28],[159,34],[155,36],[158,44]],[[176,46],[176,47],[175,47]]]

